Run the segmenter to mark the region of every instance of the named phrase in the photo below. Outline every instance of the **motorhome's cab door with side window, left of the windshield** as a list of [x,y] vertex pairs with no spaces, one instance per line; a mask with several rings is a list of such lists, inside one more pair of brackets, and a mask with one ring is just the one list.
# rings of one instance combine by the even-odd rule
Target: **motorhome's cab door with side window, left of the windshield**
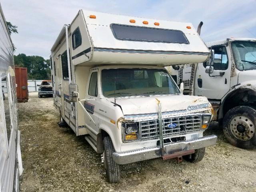
[[85,114],[85,125],[88,133],[92,138],[97,140],[98,134],[98,117],[99,117],[99,96],[98,96],[98,69],[91,70],[88,78],[88,84],[86,86],[84,108],[88,112]]

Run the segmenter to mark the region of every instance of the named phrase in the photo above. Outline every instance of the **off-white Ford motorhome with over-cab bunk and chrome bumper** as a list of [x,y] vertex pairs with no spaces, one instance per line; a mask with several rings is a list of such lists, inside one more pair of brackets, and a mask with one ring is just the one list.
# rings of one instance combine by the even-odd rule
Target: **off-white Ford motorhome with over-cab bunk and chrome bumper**
[[80,10],[51,49],[61,122],[102,154],[110,182],[120,164],[162,157],[202,160],[217,137],[206,97],[185,96],[164,66],[210,51],[191,23]]

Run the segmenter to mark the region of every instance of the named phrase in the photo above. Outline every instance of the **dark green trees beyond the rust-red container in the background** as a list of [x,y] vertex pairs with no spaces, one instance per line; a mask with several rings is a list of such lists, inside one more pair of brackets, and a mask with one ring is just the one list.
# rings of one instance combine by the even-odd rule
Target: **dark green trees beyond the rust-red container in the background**
[[51,79],[50,60],[45,60],[41,56],[26,56],[26,54],[14,55],[16,67],[28,68],[29,80],[48,80]]

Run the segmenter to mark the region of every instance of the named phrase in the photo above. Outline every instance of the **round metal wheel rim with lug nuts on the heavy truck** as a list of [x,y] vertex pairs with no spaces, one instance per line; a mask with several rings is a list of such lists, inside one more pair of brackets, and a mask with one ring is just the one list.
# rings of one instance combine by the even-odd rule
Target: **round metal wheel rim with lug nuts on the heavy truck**
[[230,122],[230,130],[241,141],[250,140],[255,133],[254,123],[246,116],[236,116]]

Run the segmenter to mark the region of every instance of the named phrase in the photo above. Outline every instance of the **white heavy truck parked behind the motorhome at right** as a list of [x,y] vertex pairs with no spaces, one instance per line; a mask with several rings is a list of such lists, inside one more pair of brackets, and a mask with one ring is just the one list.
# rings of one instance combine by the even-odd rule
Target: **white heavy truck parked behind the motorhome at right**
[[[205,96],[214,108],[214,117],[223,125],[228,141],[240,148],[256,148],[256,39],[228,38],[206,43],[214,50],[214,62],[169,68],[177,83],[186,83],[188,92]],[[186,69],[186,70],[184,70]],[[187,74],[185,74],[187,72]]]

